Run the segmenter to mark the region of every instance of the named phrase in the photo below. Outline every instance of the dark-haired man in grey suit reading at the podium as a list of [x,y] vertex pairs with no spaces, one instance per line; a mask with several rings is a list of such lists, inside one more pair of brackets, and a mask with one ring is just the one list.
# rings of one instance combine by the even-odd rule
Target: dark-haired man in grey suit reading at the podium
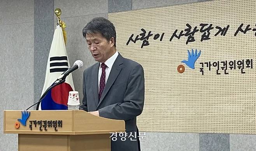
[[80,109],[96,116],[124,120],[126,140],[118,136],[116,141],[111,141],[111,150],[139,151],[136,116],[144,106],[143,68],[117,52],[115,27],[107,19],[92,19],[82,33],[98,62],[84,71]]

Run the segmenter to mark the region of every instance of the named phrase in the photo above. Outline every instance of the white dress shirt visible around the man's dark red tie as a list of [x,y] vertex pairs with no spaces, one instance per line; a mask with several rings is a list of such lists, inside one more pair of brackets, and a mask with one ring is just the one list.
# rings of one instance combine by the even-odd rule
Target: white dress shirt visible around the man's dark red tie
[[[116,61],[116,58],[118,56],[118,52],[116,51],[115,54],[113,54],[113,56],[111,56],[109,59],[107,59],[104,63],[107,65],[106,68],[106,79],[105,79],[105,83],[107,83],[107,79],[109,78],[109,73],[112,69],[112,66],[114,64],[114,62]],[[101,68],[101,62],[100,62],[100,68],[99,68],[99,73],[98,73],[98,92],[100,91],[100,76],[102,74],[102,68]]]

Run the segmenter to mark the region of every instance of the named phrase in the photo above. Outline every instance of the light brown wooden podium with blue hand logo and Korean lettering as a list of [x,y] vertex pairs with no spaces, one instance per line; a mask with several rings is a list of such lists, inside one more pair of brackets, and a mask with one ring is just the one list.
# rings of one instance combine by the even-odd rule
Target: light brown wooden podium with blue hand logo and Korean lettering
[[24,113],[30,114],[26,126],[18,120],[22,111],[4,111],[4,133],[18,134],[19,151],[110,151],[110,133],[125,131],[123,120],[83,110]]

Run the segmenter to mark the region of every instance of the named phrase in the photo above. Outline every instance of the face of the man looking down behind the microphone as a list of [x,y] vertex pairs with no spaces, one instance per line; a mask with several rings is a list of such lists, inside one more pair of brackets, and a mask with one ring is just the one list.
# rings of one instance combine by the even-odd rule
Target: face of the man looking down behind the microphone
[[105,62],[116,52],[113,37],[108,41],[101,33],[91,33],[86,34],[86,42],[95,61]]

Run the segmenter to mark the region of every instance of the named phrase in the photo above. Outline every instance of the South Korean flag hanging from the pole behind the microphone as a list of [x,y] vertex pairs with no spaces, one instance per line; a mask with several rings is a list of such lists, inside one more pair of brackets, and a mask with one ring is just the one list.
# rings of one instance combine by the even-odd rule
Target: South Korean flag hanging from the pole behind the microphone
[[[44,94],[46,89],[50,87],[61,73],[68,69],[69,66],[70,64],[68,61],[62,29],[60,26],[57,26],[54,31],[53,41],[47,61],[46,77],[42,94]],[[57,85],[47,93],[46,97],[40,103],[39,109],[68,109],[68,92],[74,90],[72,74],[69,74],[65,83]]]

